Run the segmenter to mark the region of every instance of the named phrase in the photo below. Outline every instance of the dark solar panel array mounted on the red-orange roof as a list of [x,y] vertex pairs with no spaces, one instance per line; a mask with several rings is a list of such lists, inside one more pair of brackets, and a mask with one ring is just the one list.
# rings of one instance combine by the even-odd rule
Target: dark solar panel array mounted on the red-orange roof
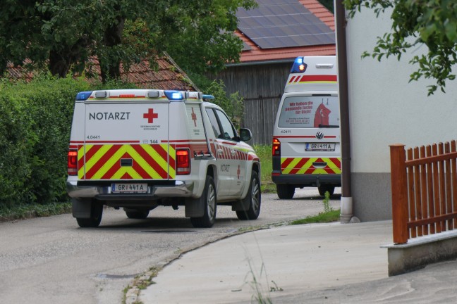
[[262,49],[334,44],[335,32],[298,0],[257,0],[238,8],[238,30]]

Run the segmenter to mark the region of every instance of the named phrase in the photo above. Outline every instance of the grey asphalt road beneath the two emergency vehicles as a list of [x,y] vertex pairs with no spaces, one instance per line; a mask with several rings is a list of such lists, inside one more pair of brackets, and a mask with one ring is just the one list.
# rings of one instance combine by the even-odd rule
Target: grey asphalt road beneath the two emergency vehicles
[[[341,189],[331,198],[339,208]],[[255,221],[240,221],[218,206],[210,229],[195,229],[184,209],[158,207],[145,220],[129,220],[106,208],[100,227],[81,229],[71,215],[0,223],[2,303],[121,303],[123,289],[150,267],[238,232],[243,227],[284,224],[322,212],[317,189],[298,189],[292,200],[262,194]]]

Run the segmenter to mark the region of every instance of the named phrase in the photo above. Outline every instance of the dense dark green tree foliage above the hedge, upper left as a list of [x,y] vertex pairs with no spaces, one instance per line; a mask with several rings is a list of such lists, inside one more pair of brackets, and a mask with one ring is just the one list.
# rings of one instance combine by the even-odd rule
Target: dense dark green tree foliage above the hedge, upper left
[[[104,80],[141,58],[170,49],[195,70],[237,61],[236,8],[253,0],[4,0],[0,8],[0,72],[8,61],[48,66],[53,75],[82,70],[99,58]],[[135,34],[140,34],[136,37]],[[142,40],[144,38],[144,40]]]

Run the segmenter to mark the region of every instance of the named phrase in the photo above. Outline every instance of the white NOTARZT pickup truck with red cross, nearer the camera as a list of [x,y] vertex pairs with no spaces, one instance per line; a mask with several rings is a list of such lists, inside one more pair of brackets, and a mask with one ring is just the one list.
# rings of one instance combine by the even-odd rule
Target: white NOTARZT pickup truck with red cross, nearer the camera
[[217,205],[240,220],[260,213],[260,160],[224,110],[201,92],[158,89],[77,94],[68,149],[68,195],[80,227],[103,205],[146,218],[185,206],[194,227],[212,227]]

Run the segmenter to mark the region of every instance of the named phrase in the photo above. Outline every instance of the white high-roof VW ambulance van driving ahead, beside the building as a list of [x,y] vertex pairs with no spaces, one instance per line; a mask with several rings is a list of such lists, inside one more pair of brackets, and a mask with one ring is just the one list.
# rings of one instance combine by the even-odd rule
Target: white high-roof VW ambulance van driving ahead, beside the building
[[279,103],[272,141],[272,181],[279,198],[313,186],[324,196],[341,186],[336,56],[298,57]]

